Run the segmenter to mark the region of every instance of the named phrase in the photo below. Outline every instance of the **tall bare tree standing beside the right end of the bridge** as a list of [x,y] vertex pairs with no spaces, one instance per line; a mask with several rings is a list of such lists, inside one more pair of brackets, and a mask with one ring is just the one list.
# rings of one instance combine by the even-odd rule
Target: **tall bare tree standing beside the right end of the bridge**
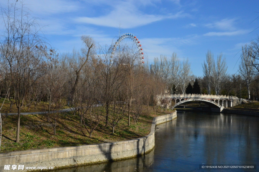
[[254,75],[254,58],[250,55],[251,50],[249,50],[249,47],[245,45],[242,46],[242,53],[241,53],[241,61],[239,64],[239,72],[243,80],[246,82],[247,91],[248,91],[248,100],[250,100],[250,84],[253,81],[253,75]]

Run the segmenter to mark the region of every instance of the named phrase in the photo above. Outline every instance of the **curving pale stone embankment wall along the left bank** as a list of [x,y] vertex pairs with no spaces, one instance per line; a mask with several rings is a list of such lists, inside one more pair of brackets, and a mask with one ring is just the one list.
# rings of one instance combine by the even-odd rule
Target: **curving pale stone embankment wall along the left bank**
[[[60,147],[51,149],[40,149],[33,151],[19,151],[0,154],[0,172],[21,171],[18,165],[24,165],[22,171],[32,171],[25,167],[54,167],[62,168],[78,166],[83,164],[98,163],[104,161],[115,161],[145,154],[155,146],[156,125],[171,121],[176,118],[176,111],[155,117],[152,122],[151,131],[147,136],[138,139],[119,141],[114,143],[102,143],[96,145],[83,145],[73,147]],[[17,169],[4,170],[4,165],[17,165]],[[37,170],[41,171],[41,170]]]

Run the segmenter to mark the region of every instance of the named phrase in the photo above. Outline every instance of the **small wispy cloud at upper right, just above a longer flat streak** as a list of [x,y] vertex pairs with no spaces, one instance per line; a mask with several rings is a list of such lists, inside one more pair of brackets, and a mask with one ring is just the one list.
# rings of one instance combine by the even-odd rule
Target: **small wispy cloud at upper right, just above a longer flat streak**
[[206,24],[205,26],[208,28],[217,28],[225,31],[234,31],[236,30],[236,28],[234,27],[235,20],[236,19],[223,19],[214,23]]

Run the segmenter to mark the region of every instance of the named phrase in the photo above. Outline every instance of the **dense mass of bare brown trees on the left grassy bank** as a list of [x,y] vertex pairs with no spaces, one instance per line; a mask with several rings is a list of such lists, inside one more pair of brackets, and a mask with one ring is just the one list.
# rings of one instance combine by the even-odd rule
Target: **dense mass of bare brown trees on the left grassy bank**
[[139,54],[131,47],[124,47],[111,61],[113,47],[100,47],[82,36],[80,51],[59,55],[39,35],[38,19],[22,2],[10,3],[1,14],[5,32],[0,40],[0,96],[10,101],[10,111],[17,107],[17,143],[21,110],[42,101],[48,102],[45,117],[54,135],[60,114],[50,111],[66,103],[91,137],[103,118],[113,132],[125,116],[128,125],[131,118],[136,123],[148,107],[144,105],[155,106],[156,95],[164,92],[164,81],[139,64]]

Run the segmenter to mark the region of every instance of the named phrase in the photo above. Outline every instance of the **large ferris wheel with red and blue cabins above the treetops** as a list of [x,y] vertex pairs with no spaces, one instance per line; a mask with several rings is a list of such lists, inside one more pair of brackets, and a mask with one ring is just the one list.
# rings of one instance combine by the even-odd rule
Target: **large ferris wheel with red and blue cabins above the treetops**
[[[119,37],[119,39],[115,42],[115,44],[112,47],[112,53],[110,62],[111,64],[114,63],[114,57],[116,58],[116,61],[120,61],[120,56],[123,56],[124,52],[129,52],[136,57],[136,61],[143,65],[144,63],[144,53],[143,48],[141,47],[139,39],[132,33],[124,33]],[[121,62],[119,62],[121,63]]]

